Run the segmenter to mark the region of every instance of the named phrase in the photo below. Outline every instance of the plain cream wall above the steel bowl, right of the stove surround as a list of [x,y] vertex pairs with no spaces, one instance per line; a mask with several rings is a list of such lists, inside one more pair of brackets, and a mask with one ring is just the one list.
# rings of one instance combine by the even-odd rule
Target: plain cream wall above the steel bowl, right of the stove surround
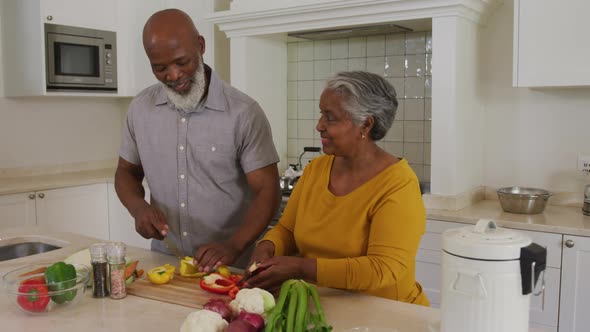
[[485,185],[582,192],[590,178],[576,164],[578,153],[590,155],[590,88],[512,87],[513,5],[505,0],[482,31]]

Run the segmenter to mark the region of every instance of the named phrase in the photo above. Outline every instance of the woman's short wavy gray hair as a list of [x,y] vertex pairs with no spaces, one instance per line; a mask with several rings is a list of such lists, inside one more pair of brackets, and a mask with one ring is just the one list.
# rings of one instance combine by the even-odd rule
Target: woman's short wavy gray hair
[[343,97],[342,107],[354,125],[362,126],[373,117],[369,138],[378,141],[385,137],[398,105],[395,89],[387,80],[364,71],[344,71],[329,78],[325,88]]

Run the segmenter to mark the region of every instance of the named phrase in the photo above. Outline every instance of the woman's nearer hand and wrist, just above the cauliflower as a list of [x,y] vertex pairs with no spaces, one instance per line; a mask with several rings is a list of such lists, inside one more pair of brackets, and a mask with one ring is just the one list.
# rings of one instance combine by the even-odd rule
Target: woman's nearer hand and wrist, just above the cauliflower
[[246,284],[248,287],[258,287],[271,293],[278,292],[281,284],[288,279],[304,279],[315,281],[316,260],[293,256],[275,256],[258,263],[262,272],[252,276]]

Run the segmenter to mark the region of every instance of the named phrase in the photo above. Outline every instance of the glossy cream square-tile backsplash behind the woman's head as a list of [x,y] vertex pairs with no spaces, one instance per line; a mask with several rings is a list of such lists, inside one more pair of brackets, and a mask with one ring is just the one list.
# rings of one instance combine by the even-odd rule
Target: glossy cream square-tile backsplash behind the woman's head
[[[395,33],[287,44],[287,156],[297,164],[305,146],[321,147],[315,130],[325,79],[346,70],[383,75],[399,101],[393,126],[379,146],[408,160],[430,182],[432,32]],[[307,152],[302,164],[317,156]]]

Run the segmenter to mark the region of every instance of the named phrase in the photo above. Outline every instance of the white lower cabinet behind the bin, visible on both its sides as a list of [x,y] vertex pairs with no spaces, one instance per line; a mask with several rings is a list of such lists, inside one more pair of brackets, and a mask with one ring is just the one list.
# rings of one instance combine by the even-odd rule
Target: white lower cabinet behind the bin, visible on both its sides
[[[416,280],[424,288],[433,307],[440,306],[442,233],[451,228],[469,224],[428,220],[426,233],[416,255]],[[545,290],[539,296],[531,296],[529,321],[531,326],[543,331],[557,331],[561,282],[562,235],[517,230],[525,233],[533,242],[547,248]]]

